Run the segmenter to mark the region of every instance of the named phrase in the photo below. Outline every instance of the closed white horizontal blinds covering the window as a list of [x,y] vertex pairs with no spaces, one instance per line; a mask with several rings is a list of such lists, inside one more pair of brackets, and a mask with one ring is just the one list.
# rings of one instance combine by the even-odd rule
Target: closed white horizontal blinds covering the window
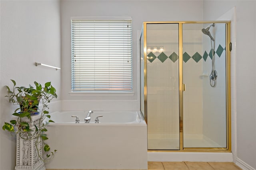
[[72,91],[132,89],[132,21],[71,20]]

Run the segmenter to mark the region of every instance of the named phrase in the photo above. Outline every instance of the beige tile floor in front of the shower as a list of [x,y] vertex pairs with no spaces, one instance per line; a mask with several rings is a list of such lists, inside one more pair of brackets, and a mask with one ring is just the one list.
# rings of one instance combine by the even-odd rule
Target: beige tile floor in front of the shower
[[233,162],[148,162],[148,170],[242,170]]

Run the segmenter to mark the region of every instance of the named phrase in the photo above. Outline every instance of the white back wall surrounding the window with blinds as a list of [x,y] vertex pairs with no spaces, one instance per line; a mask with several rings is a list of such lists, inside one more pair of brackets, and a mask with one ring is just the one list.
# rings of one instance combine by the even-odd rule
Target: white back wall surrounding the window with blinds
[[[133,90],[134,96],[70,96],[70,18],[77,16],[132,17]],[[139,34],[144,21],[202,20],[202,1],[61,1],[62,37],[62,109],[139,110]],[[70,107],[70,104],[73,107]]]

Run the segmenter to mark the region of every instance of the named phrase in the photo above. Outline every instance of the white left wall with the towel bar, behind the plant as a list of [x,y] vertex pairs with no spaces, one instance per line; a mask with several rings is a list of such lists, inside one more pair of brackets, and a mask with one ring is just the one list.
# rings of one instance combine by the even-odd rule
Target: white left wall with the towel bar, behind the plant
[[[60,70],[35,66],[35,62],[60,67],[60,2],[1,0],[0,58],[0,126],[14,111],[4,96],[5,85],[28,86],[34,81],[51,81],[60,101]],[[2,128],[1,128],[2,129]],[[16,139],[0,131],[0,169],[13,170],[16,161]]]

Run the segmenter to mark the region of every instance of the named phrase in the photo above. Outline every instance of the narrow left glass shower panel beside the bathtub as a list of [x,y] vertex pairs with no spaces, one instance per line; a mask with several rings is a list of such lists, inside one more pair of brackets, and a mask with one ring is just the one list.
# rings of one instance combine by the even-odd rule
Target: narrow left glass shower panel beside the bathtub
[[177,23],[146,24],[149,150],[179,150]]

